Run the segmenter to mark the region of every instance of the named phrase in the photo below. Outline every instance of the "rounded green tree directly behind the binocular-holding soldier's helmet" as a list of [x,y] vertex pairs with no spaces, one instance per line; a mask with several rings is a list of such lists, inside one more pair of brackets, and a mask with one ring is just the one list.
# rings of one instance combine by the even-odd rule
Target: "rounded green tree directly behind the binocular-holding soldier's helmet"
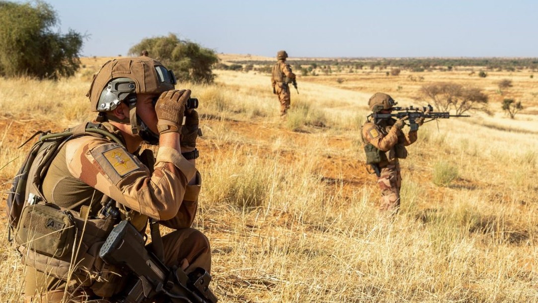
[[173,70],[179,81],[211,83],[215,80],[215,74],[211,71],[211,67],[218,63],[215,51],[188,40],[180,40],[173,33],[142,39],[131,47],[129,54],[137,56],[142,50],[147,50],[150,57]]

